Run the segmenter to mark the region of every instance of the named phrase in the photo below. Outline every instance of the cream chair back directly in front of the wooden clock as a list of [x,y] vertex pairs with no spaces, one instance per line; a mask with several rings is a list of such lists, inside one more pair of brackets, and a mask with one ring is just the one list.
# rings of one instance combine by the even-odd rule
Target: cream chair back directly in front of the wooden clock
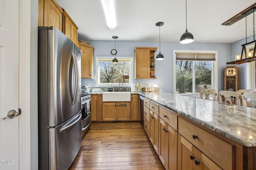
[[[241,104],[241,102],[240,102],[240,100],[242,99],[241,93],[228,91],[228,90],[221,90],[219,93],[220,102],[222,102],[222,96],[224,96],[224,98],[225,98],[224,102],[229,102],[230,104],[237,104],[237,105]],[[236,100],[233,100],[233,102],[232,102],[230,98],[236,98]],[[236,103],[235,103],[235,101],[236,101]]]

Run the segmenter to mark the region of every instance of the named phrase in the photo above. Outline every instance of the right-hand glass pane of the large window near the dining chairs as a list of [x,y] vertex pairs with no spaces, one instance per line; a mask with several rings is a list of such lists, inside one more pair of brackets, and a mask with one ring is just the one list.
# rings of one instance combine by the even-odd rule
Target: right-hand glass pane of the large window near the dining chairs
[[196,89],[195,92],[198,94],[198,90],[207,86],[212,88],[212,61],[196,61]]

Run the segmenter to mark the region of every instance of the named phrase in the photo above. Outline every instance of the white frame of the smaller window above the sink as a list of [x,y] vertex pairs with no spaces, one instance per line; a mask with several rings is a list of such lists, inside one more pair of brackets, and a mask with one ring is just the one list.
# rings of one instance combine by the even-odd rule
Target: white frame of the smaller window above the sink
[[[100,65],[99,65],[99,60],[100,59],[110,59],[111,61],[113,60],[113,57],[95,57],[96,62],[95,62],[95,70],[96,70],[96,74],[95,74],[95,86],[96,87],[108,87],[108,86],[119,86],[119,83],[99,83],[100,82],[100,76],[98,75],[100,73]],[[129,79],[130,82],[128,83],[123,83],[122,86],[123,87],[129,87],[131,86],[131,83],[133,83],[133,57],[118,57],[118,59],[127,59],[130,60],[130,72],[129,72]]]

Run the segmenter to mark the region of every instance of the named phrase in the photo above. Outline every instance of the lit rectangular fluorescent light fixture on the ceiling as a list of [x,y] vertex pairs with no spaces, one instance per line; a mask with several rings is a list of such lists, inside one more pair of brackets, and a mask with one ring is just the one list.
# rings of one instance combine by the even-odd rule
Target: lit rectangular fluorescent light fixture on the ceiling
[[101,0],[108,29],[116,29],[115,0]]

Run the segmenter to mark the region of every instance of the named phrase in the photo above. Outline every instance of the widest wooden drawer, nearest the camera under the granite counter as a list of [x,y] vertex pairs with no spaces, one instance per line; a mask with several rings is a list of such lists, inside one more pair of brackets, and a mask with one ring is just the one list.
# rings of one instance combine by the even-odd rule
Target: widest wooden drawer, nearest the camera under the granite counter
[[225,170],[235,168],[235,146],[178,118],[178,131],[190,143]]

